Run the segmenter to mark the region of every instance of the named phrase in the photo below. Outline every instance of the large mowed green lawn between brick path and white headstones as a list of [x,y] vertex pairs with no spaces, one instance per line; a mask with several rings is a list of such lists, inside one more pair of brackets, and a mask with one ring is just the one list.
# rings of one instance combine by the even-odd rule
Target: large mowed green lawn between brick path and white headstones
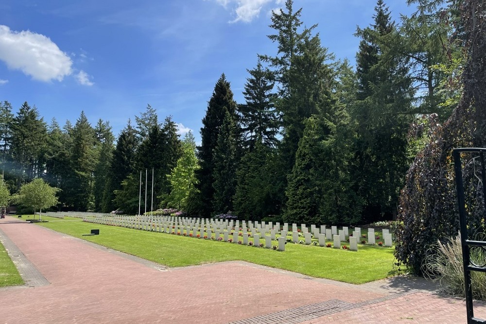
[[[285,251],[279,252],[224,241],[93,224],[81,220],[67,222],[68,219],[44,219],[50,222],[37,224],[169,267],[243,260],[353,284],[398,274],[393,267],[393,248],[359,245],[358,252],[351,252],[287,243]],[[83,236],[89,234],[92,228],[100,229],[100,235]],[[241,237],[240,239],[243,240]],[[276,245],[277,242],[273,244]]]

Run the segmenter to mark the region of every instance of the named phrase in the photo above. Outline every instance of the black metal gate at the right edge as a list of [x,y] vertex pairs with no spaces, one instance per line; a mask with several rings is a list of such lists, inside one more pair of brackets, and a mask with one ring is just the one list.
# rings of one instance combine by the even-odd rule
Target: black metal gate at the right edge
[[[485,154],[486,149],[482,148],[463,148],[453,149],[452,154],[454,156],[454,169],[457,185],[457,203],[459,206],[459,221],[461,226],[461,243],[462,243],[462,261],[464,266],[464,279],[466,286],[466,311],[468,315],[468,324],[486,323],[486,320],[474,317],[474,307],[472,304],[472,287],[471,287],[471,271],[486,272],[486,264],[475,264],[470,259],[470,248],[479,247],[485,248],[486,241],[477,241],[469,239],[466,202],[464,198],[464,184],[462,178],[462,163],[461,153],[477,153],[481,164],[481,181],[483,184],[483,203],[486,197],[486,166],[485,166]],[[486,215],[485,215],[486,217]]]

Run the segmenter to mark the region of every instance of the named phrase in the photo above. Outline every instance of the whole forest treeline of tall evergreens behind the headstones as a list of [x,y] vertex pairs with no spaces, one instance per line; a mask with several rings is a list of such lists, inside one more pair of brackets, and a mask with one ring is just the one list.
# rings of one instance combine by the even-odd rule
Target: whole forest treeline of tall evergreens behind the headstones
[[153,169],[156,208],[314,224],[391,219],[411,163],[459,101],[466,57],[457,1],[408,2],[417,12],[396,22],[378,0],[374,22],[357,28],[353,68],[287,0],[271,17],[274,53],[248,69],[245,102],[224,74],[217,80],[197,147],[150,105],[115,139],[108,121],[93,126],[83,112],[61,127],[27,102],[14,116],[5,101],[1,172],[12,192],[44,178],[61,189],[63,209],[138,213],[140,171],[143,206]]

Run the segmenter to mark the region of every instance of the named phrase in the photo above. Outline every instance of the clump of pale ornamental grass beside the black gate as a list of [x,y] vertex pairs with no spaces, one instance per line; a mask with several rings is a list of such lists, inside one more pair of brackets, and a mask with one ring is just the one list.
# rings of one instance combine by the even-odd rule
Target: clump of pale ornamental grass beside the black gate
[[[439,281],[444,291],[454,296],[464,296],[466,284],[462,261],[462,245],[460,234],[450,238],[448,242],[437,242],[430,254],[425,258],[424,273],[433,280]],[[486,263],[486,251],[480,247],[470,250],[470,259],[478,265]],[[472,297],[486,300],[486,273],[471,271]]]

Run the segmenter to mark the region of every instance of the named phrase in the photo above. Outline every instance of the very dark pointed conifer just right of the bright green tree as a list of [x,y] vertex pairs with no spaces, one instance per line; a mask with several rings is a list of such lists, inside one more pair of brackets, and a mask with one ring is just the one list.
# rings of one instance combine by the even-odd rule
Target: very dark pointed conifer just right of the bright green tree
[[225,74],[222,74],[214,86],[211,99],[208,102],[206,116],[201,128],[201,146],[197,148],[201,168],[196,170],[197,184],[192,192],[191,212],[207,216],[212,211],[214,195],[214,160],[213,154],[217,146],[218,136],[225,118],[225,110],[234,119],[236,102]]

